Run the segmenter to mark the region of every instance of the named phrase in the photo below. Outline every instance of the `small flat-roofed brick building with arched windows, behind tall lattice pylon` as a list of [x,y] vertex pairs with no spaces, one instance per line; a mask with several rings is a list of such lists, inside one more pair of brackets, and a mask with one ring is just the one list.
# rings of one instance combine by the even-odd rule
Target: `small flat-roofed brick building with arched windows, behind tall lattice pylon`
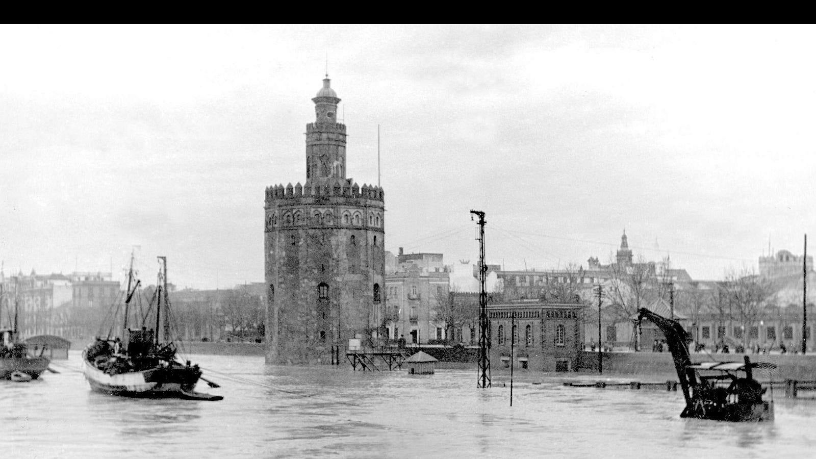
[[[512,354],[518,360],[513,364],[517,368],[545,372],[576,370],[584,308],[583,304],[539,300],[489,303],[490,365],[509,367],[513,345]],[[520,336],[521,330],[524,334]]]

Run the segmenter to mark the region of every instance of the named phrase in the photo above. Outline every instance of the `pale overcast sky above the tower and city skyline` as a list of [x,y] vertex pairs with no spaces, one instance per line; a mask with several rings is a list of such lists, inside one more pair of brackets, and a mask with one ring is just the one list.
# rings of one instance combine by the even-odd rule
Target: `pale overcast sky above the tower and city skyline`
[[813,26],[3,26],[5,273],[264,280],[264,188],[305,180],[331,86],[386,248],[721,279],[816,216]]

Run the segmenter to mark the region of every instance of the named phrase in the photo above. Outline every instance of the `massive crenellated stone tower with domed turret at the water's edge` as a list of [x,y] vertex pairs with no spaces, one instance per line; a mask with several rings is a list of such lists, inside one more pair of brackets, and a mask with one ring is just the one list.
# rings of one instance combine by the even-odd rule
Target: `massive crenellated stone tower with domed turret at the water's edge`
[[304,185],[266,189],[268,363],[330,363],[349,338],[365,343],[383,326],[383,189],[346,178],[346,126],[328,75],[312,100]]

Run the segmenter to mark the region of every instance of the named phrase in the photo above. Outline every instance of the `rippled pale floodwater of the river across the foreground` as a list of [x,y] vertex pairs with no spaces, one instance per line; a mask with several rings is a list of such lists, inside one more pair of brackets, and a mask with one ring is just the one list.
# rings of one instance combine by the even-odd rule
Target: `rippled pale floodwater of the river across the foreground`
[[[775,391],[773,423],[681,419],[680,391],[571,388],[597,375],[475,370],[437,374],[264,366],[261,357],[195,355],[220,402],[91,392],[79,354],[60,374],[0,381],[5,457],[805,457],[816,400]],[[224,375],[231,375],[226,377]],[[631,378],[630,378],[631,379]],[[622,381],[628,381],[623,379]],[[534,382],[538,384],[533,384]]]

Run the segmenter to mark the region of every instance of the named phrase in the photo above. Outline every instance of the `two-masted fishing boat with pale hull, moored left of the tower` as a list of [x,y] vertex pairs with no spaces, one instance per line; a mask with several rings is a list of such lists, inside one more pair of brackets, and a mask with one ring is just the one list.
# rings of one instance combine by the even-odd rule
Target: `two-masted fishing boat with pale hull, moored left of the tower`
[[[133,256],[131,269],[128,271],[127,291],[125,295],[125,312],[122,324],[122,336],[112,336],[113,327],[108,336],[98,336],[95,341],[82,351],[82,367],[85,379],[91,389],[106,394],[127,397],[162,398],[175,397],[192,400],[220,400],[220,395],[196,392],[199,380],[211,387],[219,387],[215,382],[202,377],[202,369],[192,365],[189,360],[181,363],[177,357],[175,344],[169,338],[169,296],[167,295],[166,258],[158,257],[162,268],[158,274],[155,307],[155,328],[147,328],[149,314],[142,316],[140,328],[128,328],[127,319],[131,313],[131,301],[137,292],[140,281],[134,282]],[[149,306],[148,312],[153,310]],[[113,320],[116,319],[113,314]],[[160,339],[159,325],[164,320]]]

